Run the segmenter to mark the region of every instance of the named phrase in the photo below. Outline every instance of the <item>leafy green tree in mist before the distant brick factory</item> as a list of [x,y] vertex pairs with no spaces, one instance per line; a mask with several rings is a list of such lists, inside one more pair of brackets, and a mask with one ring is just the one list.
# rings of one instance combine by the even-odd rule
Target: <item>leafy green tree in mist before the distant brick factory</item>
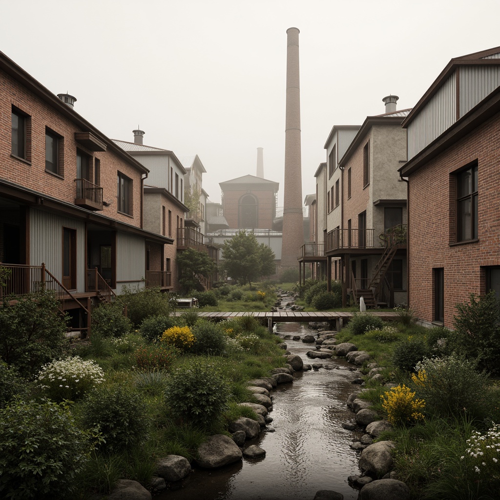
[[253,232],[239,231],[222,246],[223,268],[242,284],[251,284],[262,275],[274,273],[274,252],[258,244]]

